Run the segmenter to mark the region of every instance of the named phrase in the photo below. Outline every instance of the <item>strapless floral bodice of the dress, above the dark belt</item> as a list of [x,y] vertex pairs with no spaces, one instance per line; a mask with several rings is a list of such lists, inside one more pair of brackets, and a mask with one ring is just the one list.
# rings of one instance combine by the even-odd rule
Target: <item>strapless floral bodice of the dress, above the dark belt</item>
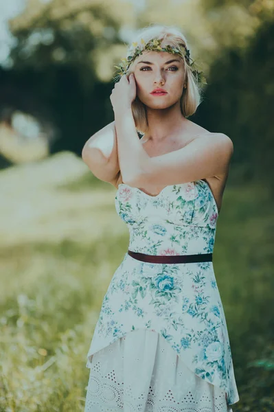
[[218,207],[203,180],[165,186],[157,196],[121,183],[115,209],[130,251],[148,255],[213,253]]

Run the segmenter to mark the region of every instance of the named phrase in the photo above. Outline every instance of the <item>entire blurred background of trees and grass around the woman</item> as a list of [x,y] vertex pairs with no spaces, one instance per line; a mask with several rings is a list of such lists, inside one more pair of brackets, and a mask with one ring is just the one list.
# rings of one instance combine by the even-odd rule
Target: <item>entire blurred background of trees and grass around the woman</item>
[[240,402],[274,411],[274,1],[0,3],[0,411],[83,411],[102,299],[128,249],[81,157],[112,122],[135,30],[181,27],[207,76],[193,122],[233,141],[214,270]]

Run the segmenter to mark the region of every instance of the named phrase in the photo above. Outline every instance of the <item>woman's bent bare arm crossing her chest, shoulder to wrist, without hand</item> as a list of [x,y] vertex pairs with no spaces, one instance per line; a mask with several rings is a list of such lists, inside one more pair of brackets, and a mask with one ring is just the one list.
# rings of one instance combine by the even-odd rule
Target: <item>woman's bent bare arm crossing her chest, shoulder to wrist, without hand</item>
[[133,187],[176,185],[222,176],[233,155],[233,143],[223,133],[197,137],[185,147],[149,157],[139,141],[131,109],[115,117],[120,170]]

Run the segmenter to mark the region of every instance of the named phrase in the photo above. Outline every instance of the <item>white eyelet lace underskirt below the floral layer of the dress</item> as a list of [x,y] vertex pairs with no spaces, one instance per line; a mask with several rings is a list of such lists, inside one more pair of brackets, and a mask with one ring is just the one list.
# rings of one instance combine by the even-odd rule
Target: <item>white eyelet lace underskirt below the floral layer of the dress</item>
[[196,376],[146,328],[95,352],[87,367],[84,412],[232,412],[225,391]]

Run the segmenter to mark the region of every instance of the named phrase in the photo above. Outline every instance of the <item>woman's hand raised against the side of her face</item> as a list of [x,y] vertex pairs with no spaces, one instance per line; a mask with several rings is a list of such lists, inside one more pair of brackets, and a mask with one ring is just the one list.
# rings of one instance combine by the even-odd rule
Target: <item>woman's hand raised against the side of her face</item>
[[111,93],[111,104],[113,111],[124,111],[126,108],[131,108],[132,102],[136,98],[136,82],[134,74],[130,76],[125,74],[120,78],[119,82],[115,83]]

